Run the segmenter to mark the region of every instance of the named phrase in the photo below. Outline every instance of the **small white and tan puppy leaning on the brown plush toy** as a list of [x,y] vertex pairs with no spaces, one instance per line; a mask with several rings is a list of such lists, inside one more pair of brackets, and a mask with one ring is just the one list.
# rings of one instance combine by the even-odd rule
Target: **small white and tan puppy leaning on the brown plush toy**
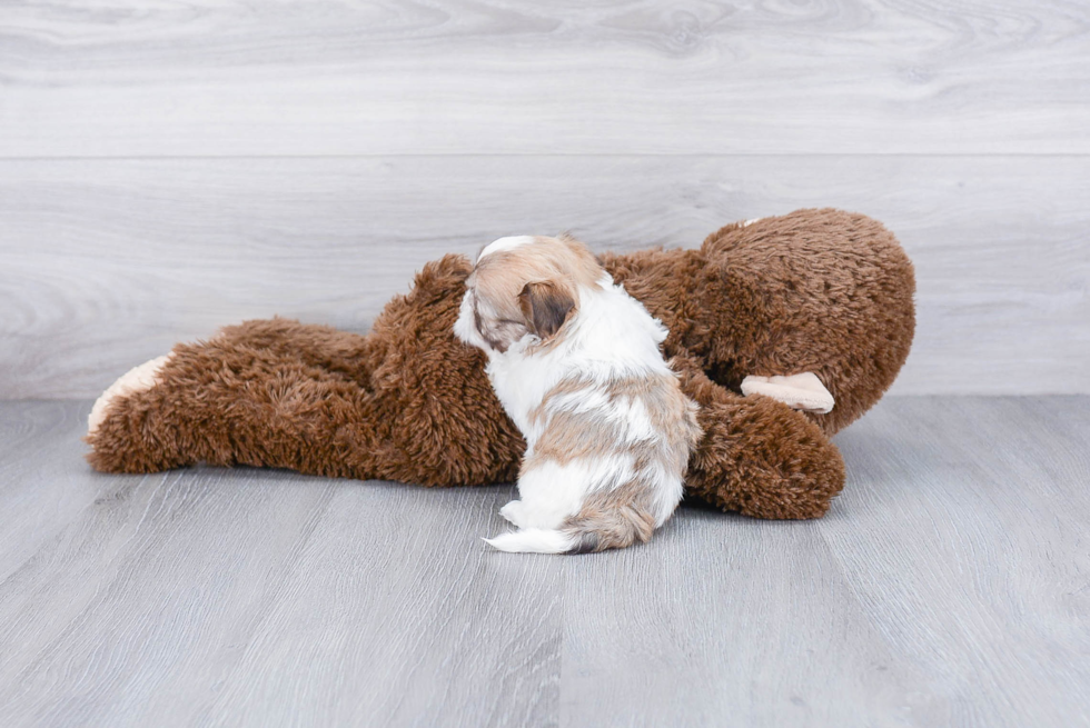
[[526,439],[519,530],[503,551],[579,554],[651,538],[682,498],[701,437],[658,345],[666,329],[569,237],[501,238],[466,280],[456,336]]

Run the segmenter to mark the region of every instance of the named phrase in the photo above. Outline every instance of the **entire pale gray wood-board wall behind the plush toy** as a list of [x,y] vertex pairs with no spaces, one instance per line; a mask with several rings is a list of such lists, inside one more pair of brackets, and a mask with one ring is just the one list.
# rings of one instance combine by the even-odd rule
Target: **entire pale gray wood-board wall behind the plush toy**
[[365,329],[512,231],[840,206],[920,270],[902,393],[1087,392],[1090,4],[0,7],[0,397],[274,312]]

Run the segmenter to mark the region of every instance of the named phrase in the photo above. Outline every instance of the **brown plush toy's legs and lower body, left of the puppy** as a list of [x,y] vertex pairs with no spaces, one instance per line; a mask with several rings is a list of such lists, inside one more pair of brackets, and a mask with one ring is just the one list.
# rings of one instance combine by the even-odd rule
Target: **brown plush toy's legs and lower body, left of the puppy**
[[271,319],[179,345],[150,387],[103,399],[88,460],[108,472],[207,462],[426,486],[511,482],[525,445],[483,355],[453,333],[468,270],[457,256],[428,263],[367,336]]

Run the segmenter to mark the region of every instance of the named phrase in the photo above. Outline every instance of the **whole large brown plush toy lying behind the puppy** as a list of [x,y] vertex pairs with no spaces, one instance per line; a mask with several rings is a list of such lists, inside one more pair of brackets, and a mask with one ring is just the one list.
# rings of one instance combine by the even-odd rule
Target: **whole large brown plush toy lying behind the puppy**
[[[601,261],[670,330],[664,355],[701,407],[687,495],[822,516],[844,482],[829,437],[878,401],[912,342],[915,282],[894,237],[862,215],[799,210],[729,225],[698,250]],[[483,353],[452,331],[469,270],[463,256],[428,263],[367,336],[275,318],[178,345],[96,402],[88,459],[107,472],[208,462],[514,481],[525,445]]]

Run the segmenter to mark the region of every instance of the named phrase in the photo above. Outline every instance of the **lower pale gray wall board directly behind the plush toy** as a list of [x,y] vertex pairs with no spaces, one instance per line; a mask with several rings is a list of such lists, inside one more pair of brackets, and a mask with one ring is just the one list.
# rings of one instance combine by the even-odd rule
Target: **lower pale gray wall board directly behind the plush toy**
[[96,397],[219,326],[366,330],[413,272],[497,237],[696,246],[835,206],[915,261],[898,393],[1090,392],[1090,157],[0,161],[0,398]]

